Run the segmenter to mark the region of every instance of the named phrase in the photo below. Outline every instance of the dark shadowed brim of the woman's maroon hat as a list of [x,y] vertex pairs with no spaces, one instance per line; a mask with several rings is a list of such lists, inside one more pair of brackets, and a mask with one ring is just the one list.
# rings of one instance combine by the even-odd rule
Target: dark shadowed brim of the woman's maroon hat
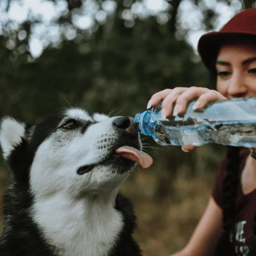
[[197,51],[200,54],[201,59],[206,68],[208,68],[208,70],[211,70],[212,67],[215,67],[217,55],[223,42],[225,42],[226,40],[230,40],[232,42],[232,40],[235,41],[237,38],[244,38],[245,40],[250,38],[256,40],[256,35],[242,32],[211,32],[201,36],[197,44]]

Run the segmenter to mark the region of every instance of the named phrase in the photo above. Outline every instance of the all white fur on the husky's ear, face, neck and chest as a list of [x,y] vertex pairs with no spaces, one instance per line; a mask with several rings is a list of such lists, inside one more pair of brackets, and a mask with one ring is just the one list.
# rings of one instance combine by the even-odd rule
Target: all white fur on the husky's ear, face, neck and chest
[[[100,164],[91,172],[77,174],[84,165],[104,160],[117,138],[114,118],[81,109],[67,116],[85,124],[86,132],[56,129],[37,148],[30,168],[30,189],[34,195],[31,217],[61,256],[105,256],[123,227],[115,208],[119,184],[129,172],[118,173]],[[2,122],[0,142],[7,158],[24,136],[25,125],[12,118]],[[30,136],[29,136],[30,137]]]

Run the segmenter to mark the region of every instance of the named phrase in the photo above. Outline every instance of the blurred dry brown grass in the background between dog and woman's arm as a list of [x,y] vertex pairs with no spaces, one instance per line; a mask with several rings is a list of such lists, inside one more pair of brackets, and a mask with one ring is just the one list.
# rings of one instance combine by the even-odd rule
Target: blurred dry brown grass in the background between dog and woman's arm
[[[0,172],[0,183],[5,171]],[[121,186],[122,193],[130,198],[138,218],[134,234],[144,256],[169,255],[181,249],[191,236],[201,217],[211,192],[213,176],[201,174],[187,179],[184,175],[174,181],[174,191],[164,198],[156,198],[157,172],[139,171]],[[0,188],[2,197],[7,183]],[[0,208],[2,208],[0,204]],[[0,231],[2,229],[0,215]]]

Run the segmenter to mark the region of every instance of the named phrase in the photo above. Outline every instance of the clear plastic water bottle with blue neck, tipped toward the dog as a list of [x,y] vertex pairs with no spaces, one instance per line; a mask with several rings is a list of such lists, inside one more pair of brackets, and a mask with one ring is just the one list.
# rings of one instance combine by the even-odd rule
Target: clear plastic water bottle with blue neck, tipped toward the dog
[[190,101],[182,115],[164,120],[160,102],[134,117],[134,129],[164,146],[216,143],[256,147],[256,97],[213,101],[200,110],[193,109],[195,102]]

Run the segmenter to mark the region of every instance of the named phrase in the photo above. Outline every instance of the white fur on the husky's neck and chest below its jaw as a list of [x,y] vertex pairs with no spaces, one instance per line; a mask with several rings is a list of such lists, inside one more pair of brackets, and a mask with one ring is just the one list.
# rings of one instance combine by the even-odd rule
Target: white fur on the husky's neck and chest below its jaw
[[107,255],[123,227],[123,217],[115,209],[118,189],[85,193],[71,199],[64,193],[35,200],[33,219],[58,255]]

